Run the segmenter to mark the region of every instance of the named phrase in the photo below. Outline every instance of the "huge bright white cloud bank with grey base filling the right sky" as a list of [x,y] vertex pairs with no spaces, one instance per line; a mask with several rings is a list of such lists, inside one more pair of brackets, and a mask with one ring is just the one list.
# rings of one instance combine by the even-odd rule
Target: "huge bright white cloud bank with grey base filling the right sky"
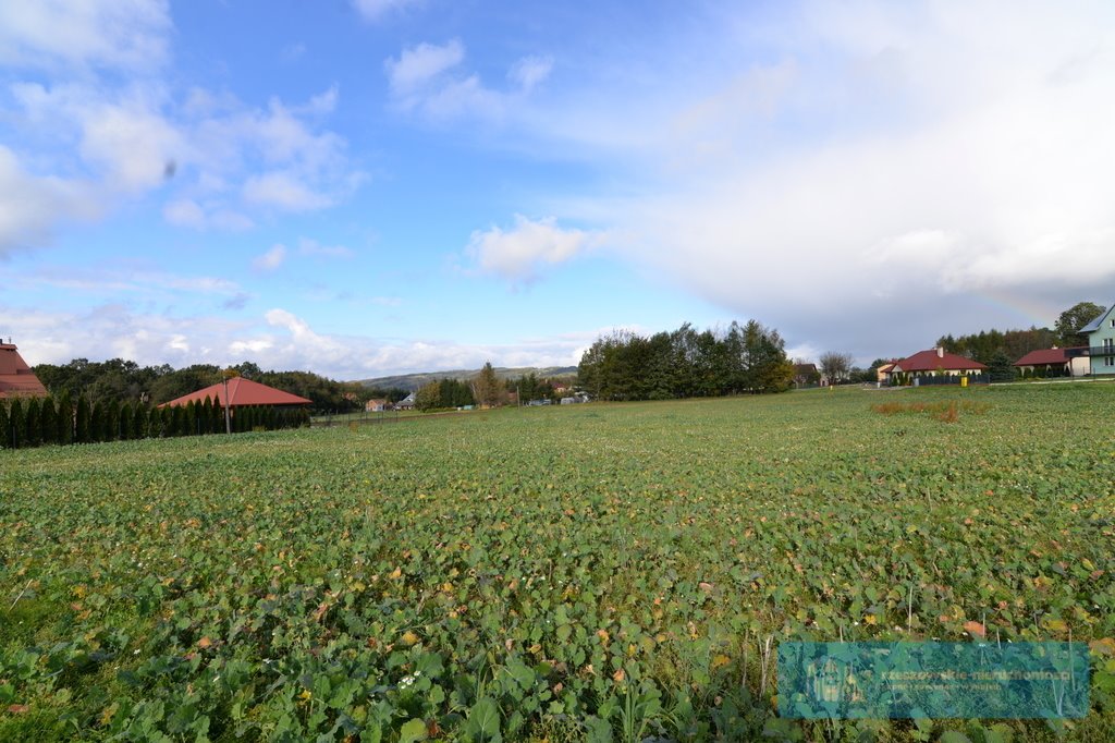
[[[554,210],[626,261],[863,355],[894,327],[1056,317],[991,292],[1056,308],[1115,281],[1109,4],[806,2],[701,30],[655,96],[632,74],[537,119],[626,184]],[[724,51],[759,31],[765,60]]]

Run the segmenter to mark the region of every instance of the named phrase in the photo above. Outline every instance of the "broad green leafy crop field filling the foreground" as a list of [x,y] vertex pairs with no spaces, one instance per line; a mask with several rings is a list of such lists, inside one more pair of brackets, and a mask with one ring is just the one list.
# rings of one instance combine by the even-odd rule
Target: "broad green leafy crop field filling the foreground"
[[[1113,411],[807,392],[3,451],[0,740],[1115,740]],[[1093,640],[1092,714],[772,712],[783,639],[972,623]]]

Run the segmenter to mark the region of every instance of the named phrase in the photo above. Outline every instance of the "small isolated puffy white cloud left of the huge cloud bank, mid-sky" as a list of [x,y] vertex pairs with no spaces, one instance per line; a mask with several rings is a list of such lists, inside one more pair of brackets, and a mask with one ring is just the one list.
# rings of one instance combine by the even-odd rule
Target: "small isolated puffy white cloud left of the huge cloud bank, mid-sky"
[[563,263],[600,244],[602,237],[599,232],[562,229],[552,216],[533,221],[516,214],[510,230],[493,225],[473,232],[465,252],[486,273],[530,281],[542,266]]

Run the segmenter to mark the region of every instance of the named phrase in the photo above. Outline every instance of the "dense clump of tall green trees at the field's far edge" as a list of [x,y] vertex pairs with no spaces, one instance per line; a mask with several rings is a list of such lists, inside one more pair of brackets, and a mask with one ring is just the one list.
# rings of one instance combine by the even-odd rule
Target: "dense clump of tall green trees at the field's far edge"
[[689,322],[652,336],[614,330],[578,366],[580,387],[612,401],[778,393],[793,378],[778,331],[756,320],[701,332]]

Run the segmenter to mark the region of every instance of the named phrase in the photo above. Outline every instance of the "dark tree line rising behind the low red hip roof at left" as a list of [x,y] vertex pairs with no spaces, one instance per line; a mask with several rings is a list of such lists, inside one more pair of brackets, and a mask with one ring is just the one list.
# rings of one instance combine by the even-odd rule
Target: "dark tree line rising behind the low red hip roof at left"
[[[358,383],[336,382],[311,372],[264,372],[252,361],[231,367],[240,376],[313,401],[317,411],[360,409],[372,397],[401,399],[406,390],[367,389]],[[212,364],[194,364],[182,369],[164,364],[139,366],[119,358],[90,361],[76,358],[68,364],[39,364],[32,369],[51,395],[85,395],[101,403],[128,402],[162,405],[222,379],[222,369]]]

